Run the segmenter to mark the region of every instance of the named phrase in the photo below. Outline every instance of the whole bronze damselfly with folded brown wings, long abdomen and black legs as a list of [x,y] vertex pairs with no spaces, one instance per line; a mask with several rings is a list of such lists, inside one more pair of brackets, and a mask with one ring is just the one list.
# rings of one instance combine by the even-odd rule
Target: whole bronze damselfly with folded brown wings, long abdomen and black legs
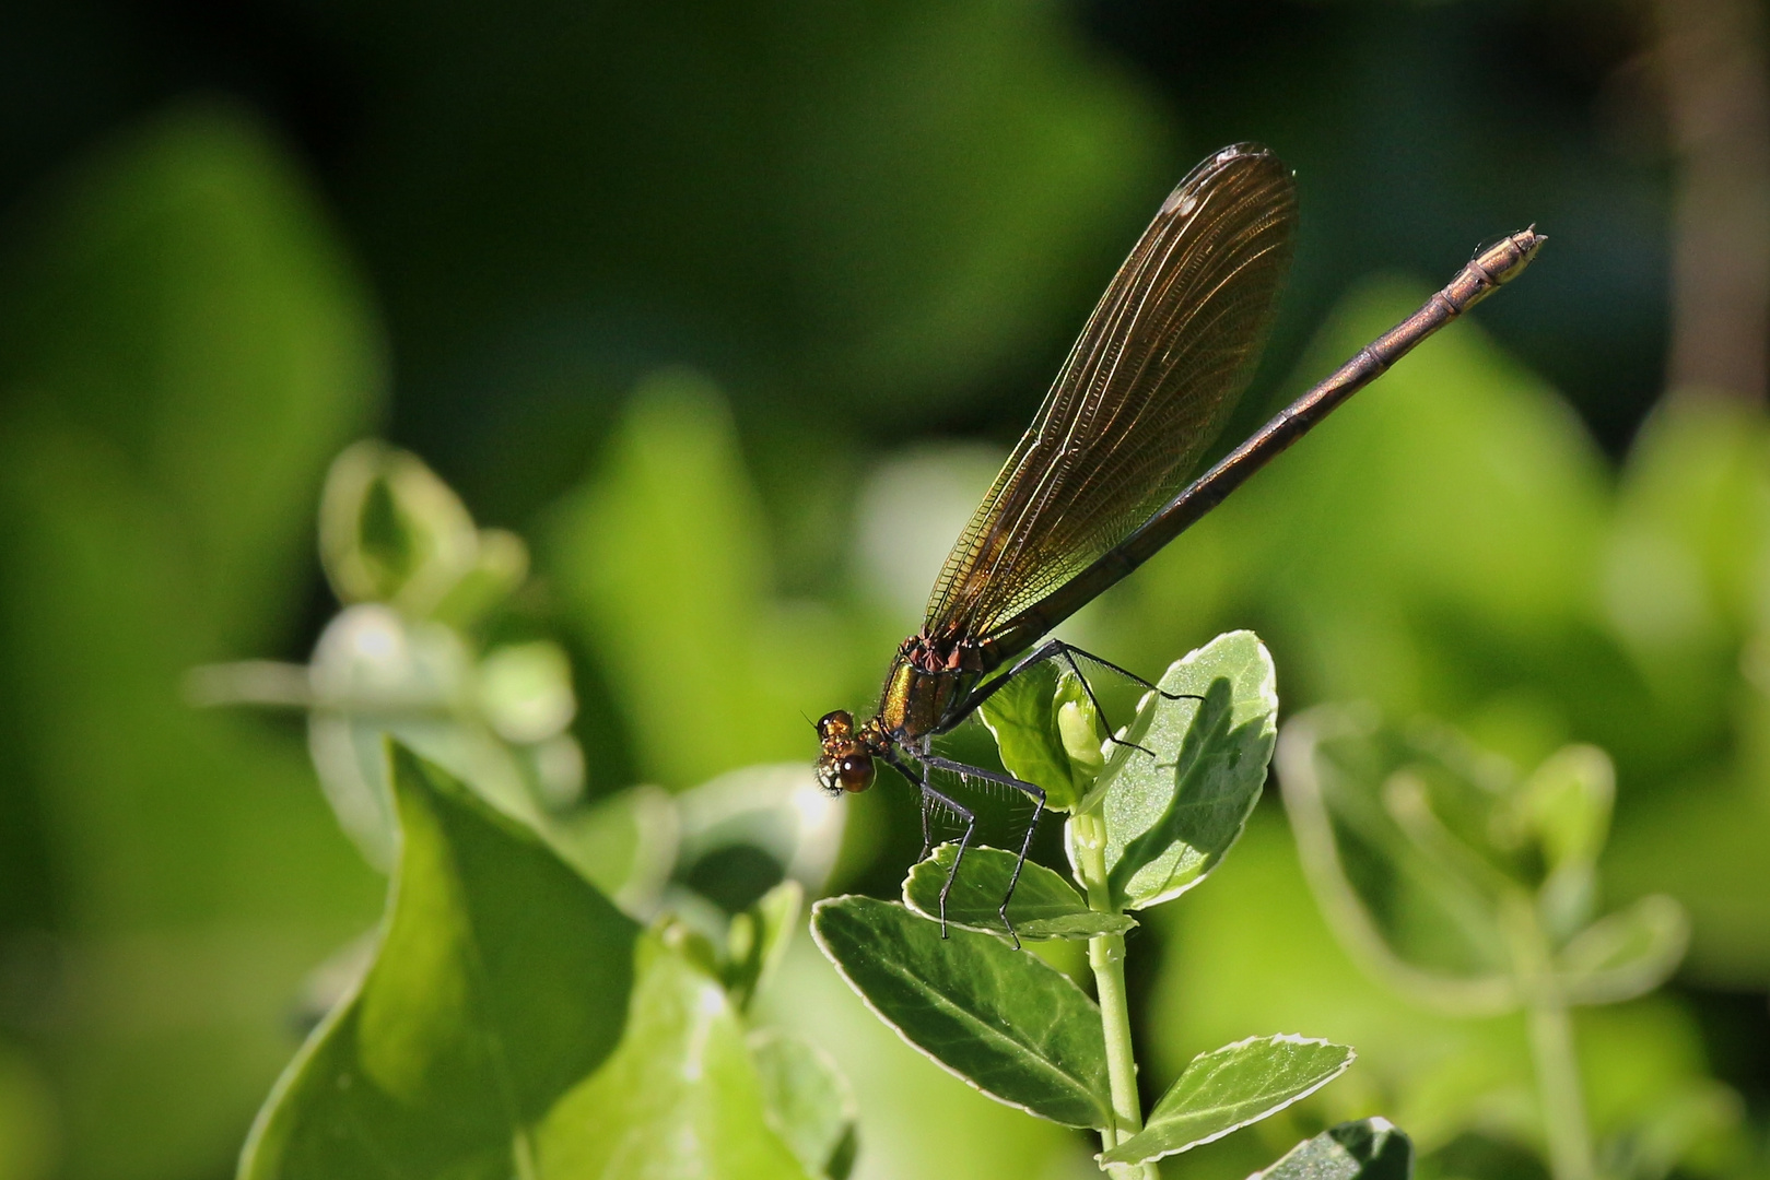
[[[885,761],[920,787],[924,839],[931,805],[965,821],[940,895],[942,920],[975,817],[933,784],[931,771],[1027,793],[1035,800],[1032,824],[1044,808],[1044,791],[942,759],[931,750],[933,738],[1041,660],[1064,658],[1074,667],[1076,656],[1085,656],[1124,672],[1060,640],[1027,649],[1409,349],[1515,278],[1543,242],[1533,226],[1483,249],[1418,311],[1191,478],[1251,377],[1290,267],[1294,230],[1290,172],[1264,147],[1223,149],[1181,180],[1119,267],[1039,414],[947,557],[922,630],[897,647],[885,674],[874,716],[857,727],[851,713],[835,709],[818,722],[818,782],[827,791],[866,791],[874,762]],[[1021,651],[1027,655],[1009,670],[991,676]],[[1032,826],[1021,840],[1021,862],[1030,840]],[[1012,893],[1011,879],[1004,922]]]

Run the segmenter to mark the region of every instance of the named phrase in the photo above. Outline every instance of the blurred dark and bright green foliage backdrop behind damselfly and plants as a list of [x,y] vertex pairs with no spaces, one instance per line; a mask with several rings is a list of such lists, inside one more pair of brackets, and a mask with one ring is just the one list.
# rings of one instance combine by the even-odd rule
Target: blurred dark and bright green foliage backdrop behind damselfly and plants
[[[1374,699],[1526,768],[1609,750],[1607,897],[1673,893],[1694,943],[1669,989],[1582,1024],[1593,1118],[1717,1079],[1729,1120],[1666,1169],[1770,1175],[1765,23],[1751,0],[11,0],[0,1180],[230,1175],[303,980],[379,913],[299,718],[186,692],[198,665],[308,660],[350,441],[529,541],[503,626],[570,655],[586,798],[809,773],[804,718],[871,704],[1115,264],[1234,140],[1297,170],[1303,228],[1232,435],[1481,241],[1551,241],[1066,633],[1154,674],[1253,626],[1287,713]],[[850,801],[830,890],[894,895],[920,842],[899,787]],[[1542,1175],[1506,1116],[1520,1030],[1363,980],[1273,800],[1131,973],[1150,1095],[1253,1031],[1363,1054],[1172,1175],[1379,1111],[1450,1175]],[[858,1176],[1092,1171],[1080,1136],[903,1049],[804,939],[761,1003],[843,1060]]]

